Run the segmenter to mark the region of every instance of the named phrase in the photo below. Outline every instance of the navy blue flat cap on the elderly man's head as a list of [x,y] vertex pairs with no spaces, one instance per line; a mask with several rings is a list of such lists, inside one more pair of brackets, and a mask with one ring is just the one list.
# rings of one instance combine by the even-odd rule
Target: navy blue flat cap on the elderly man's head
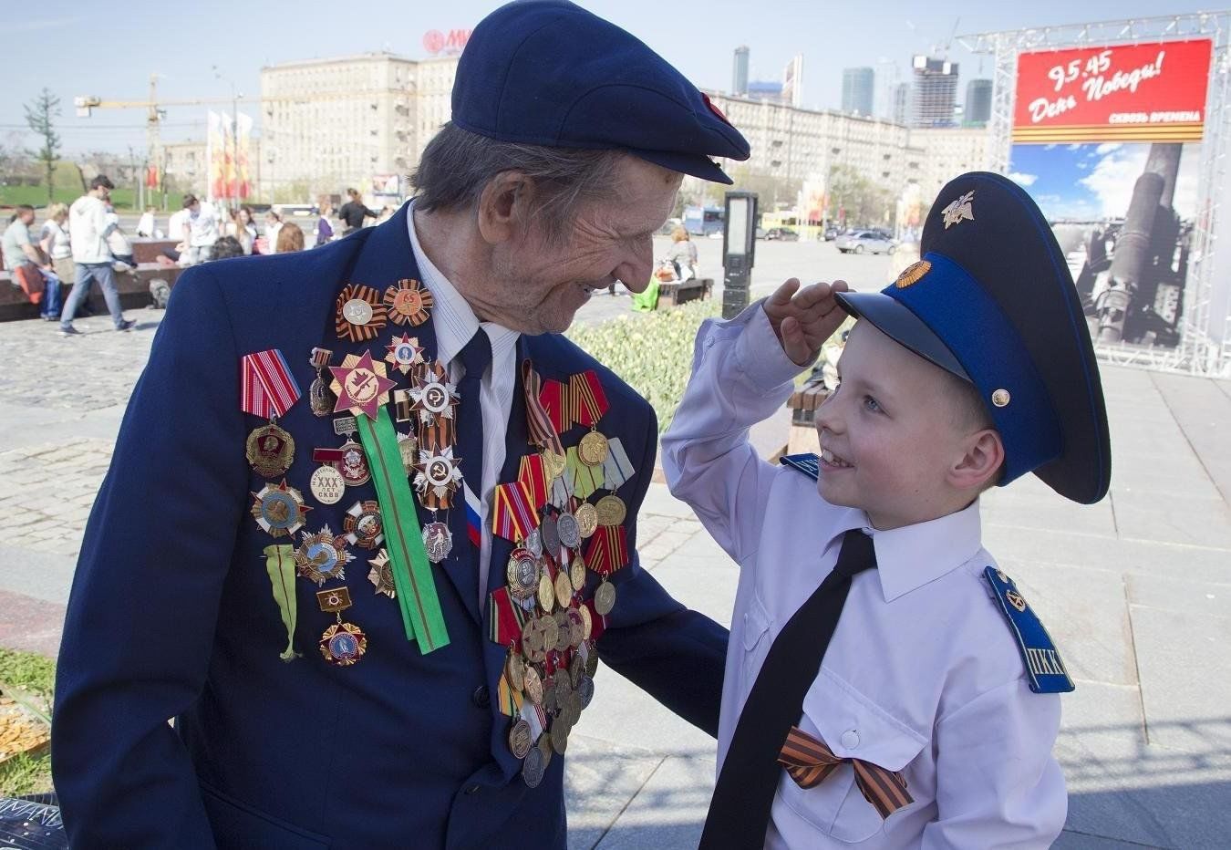
[[627,150],[672,171],[730,184],[712,156],[748,143],[662,57],[566,0],[516,0],[470,33],[452,121],[501,142]]

